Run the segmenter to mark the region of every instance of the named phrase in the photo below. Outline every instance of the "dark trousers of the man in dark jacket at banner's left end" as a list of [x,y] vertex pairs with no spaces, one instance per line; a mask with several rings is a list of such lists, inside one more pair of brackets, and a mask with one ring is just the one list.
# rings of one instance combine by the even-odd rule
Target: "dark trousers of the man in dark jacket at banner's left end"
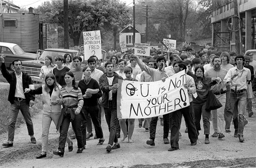
[[105,113],[106,123],[108,124],[109,131],[110,131],[108,144],[113,145],[113,143],[118,142],[118,138],[116,136],[116,126],[117,126],[117,123],[119,123],[119,121],[117,118],[117,109],[113,108],[112,101],[109,101],[109,108],[104,107],[104,113]]

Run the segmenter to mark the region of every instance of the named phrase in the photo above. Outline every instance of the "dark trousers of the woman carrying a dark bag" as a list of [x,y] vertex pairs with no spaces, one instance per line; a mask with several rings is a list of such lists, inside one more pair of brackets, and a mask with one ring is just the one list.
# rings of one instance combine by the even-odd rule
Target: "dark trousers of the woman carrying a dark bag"
[[197,128],[197,131],[201,130],[201,116],[203,116],[203,125],[204,125],[204,134],[210,134],[210,110],[205,110],[206,102],[204,103],[194,103],[194,122]]

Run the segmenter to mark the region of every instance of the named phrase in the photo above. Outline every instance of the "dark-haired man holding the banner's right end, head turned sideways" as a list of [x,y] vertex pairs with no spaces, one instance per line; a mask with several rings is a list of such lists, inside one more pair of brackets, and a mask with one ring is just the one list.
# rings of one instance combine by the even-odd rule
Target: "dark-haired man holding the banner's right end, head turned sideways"
[[[178,61],[174,63],[174,71],[175,73],[179,73],[180,71],[186,71],[186,64],[182,61]],[[186,82],[184,84],[184,88],[187,89],[189,103],[193,101],[192,95],[196,93],[196,86],[193,77],[186,74]],[[197,145],[197,129],[193,119],[193,107],[191,105],[176,110],[172,113],[172,118],[170,120],[170,146],[171,148],[168,151],[175,151],[179,149],[179,130],[181,125],[182,115],[187,124],[188,137],[190,139],[191,146]]]

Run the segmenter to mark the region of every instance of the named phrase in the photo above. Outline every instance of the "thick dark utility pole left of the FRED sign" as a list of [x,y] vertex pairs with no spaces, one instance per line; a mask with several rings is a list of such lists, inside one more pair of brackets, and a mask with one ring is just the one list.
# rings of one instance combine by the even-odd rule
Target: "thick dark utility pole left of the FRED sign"
[[64,48],[69,49],[69,1],[63,0]]

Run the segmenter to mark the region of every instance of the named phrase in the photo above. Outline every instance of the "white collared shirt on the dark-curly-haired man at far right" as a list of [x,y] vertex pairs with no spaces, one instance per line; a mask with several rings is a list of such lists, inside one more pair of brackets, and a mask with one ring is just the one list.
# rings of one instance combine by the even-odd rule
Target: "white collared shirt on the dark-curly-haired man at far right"
[[[231,77],[237,73],[238,76],[231,80]],[[231,82],[231,89],[233,90],[247,89],[247,80],[251,80],[251,72],[245,67],[242,70],[239,70],[237,67],[230,68],[224,78],[225,83]]]

